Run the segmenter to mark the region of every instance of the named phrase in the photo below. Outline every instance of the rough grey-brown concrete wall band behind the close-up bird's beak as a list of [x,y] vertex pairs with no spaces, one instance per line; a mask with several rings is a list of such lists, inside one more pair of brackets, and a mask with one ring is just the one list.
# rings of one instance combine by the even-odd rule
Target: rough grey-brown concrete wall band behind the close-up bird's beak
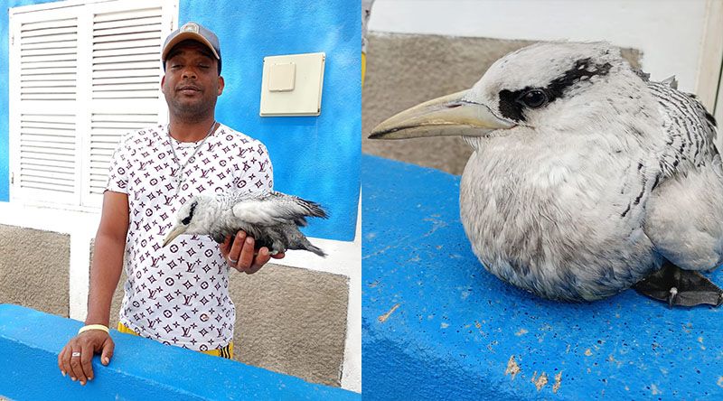
[[[362,91],[362,152],[461,174],[472,149],[455,136],[375,141],[383,120],[431,98],[469,89],[494,61],[530,41],[370,33]],[[640,52],[624,50],[638,66]]]

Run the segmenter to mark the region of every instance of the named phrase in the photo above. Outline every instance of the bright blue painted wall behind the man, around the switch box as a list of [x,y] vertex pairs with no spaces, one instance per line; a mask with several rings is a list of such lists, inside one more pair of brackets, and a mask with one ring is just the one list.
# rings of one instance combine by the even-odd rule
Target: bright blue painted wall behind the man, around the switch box
[[[49,3],[0,0],[0,201],[8,200],[7,8]],[[220,18],[219,16],[223,16]],[[361,7],[358,1],[181,0],[179,24],[196,21],[221,40],[226,89],[216,117],[267,145],[275,187],[323,204],[330,219],[305,234],[352,240],[356,227],[362,148]],[[319,117],[259,117],[265,56],[324,51]]]

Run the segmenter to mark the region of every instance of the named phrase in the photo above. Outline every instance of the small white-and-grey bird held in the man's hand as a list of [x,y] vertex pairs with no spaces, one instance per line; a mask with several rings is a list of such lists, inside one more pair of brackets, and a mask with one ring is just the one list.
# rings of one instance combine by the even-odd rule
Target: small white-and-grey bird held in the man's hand
[[278,191],[226,191],[214,196],[196,195],[176,213],[174,228],[164,238],[163,247],[182,234],[210,235],[222,243],[239,230],[255,239],[255,247],[268,247],[270,255],[301,249],[326,256],[299,231],[306,218],[328,217],[313,201]]

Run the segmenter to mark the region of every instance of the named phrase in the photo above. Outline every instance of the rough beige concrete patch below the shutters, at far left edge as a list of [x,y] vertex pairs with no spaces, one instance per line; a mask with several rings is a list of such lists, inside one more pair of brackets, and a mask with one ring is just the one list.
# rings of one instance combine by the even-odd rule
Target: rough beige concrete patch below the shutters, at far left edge
[[0,225],[0,303],[69,316],[70,236]]

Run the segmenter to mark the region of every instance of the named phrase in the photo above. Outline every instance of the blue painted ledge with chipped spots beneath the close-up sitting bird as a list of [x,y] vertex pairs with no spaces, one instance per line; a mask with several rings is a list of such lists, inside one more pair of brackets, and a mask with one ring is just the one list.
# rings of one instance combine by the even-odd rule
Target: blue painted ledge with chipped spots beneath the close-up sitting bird
[[362,177],[364,399],[723,399],[719,310],[542,300],[479,264],[458,176],[364,156]]

